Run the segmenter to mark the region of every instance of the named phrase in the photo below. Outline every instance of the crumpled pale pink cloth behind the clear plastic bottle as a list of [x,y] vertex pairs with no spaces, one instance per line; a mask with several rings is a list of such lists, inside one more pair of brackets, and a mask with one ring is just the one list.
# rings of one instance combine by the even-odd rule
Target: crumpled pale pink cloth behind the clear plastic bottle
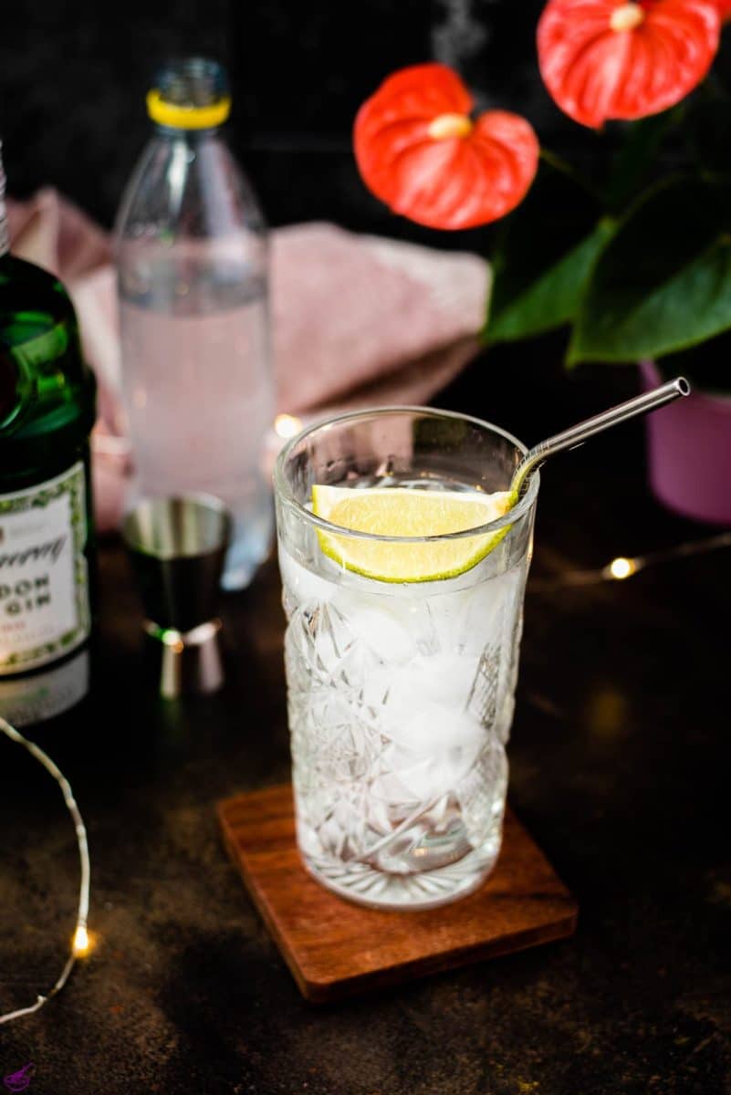
[[[101,530],[124,508],[131,460],[108,235],[56,191],[9,201],[13,253],[53,270],[79,313],[98,381],[92,435]],[[427,403],[475,356],[490,287],[477,255],[440,252],[329,223],[271,233],[277,411],[303,418]]]

